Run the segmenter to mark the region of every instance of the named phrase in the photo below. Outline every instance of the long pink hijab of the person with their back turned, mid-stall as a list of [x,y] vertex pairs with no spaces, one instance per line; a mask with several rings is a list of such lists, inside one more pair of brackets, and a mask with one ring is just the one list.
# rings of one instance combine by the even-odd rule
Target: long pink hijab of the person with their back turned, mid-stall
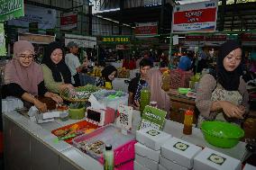
[[149,85],[151,87],[151,101],[158,103],[158,108],[167,112],[166,119],[169,119],[169,95],[161,89],[161,72],[159,69],[151,68],[149,71]]

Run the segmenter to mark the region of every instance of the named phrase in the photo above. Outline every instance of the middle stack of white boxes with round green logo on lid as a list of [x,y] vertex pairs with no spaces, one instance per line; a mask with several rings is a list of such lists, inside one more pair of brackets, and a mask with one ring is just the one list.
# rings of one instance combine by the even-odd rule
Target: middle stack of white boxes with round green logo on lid
[[194,157],[202,150],[184,140],[172,138],[161,146],[159,170],[188,170],[194,165]]

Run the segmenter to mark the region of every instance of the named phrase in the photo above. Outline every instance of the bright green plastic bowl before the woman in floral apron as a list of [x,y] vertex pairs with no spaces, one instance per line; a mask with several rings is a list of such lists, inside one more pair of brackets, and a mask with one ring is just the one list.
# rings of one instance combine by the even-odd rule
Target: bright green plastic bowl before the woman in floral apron
[[238,125],[224,121],[204,121],[201,130],[206,141],[219,148],[233,148],[244,135]]

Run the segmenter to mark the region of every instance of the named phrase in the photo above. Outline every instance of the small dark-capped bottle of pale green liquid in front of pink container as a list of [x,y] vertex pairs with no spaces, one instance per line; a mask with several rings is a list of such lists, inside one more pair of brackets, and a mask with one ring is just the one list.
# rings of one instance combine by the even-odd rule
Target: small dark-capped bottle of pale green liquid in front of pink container
[[114,170],[114,151],[108,144],[105,145],[104,151],[104,170]]

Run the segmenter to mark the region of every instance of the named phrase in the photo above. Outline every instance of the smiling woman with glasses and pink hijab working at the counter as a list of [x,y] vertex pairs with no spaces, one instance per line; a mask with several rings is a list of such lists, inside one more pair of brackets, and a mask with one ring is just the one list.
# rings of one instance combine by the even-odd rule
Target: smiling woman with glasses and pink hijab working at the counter
[[14,58],[5,66],[3,92],[5,95],[12,95],[33,103],[41,112],[46,112],[47,106],[34,96],[49,97],[57,103],[62,102],[58,94],[47,92],[41,67],[34,62],[32,43],[26,40],[14,43]]

